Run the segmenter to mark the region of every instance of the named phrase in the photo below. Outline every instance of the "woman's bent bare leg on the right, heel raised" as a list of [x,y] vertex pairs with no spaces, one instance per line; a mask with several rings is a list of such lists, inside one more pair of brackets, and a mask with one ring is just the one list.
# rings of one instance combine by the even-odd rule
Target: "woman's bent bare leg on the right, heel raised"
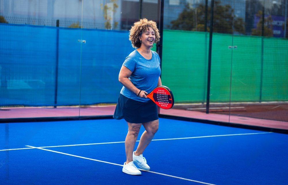
[[135,151],[135,155],[141,155],[143,154],[143,151],[148,146],[148,144],[151,142],[151,140],[154,138],[155,133],[158,130],[159,127],[159,120],[154,120],[146,123],[142,123],[142,125],[145,128],[145,131],[143,132],[139,145],[137,147],[137,150]]

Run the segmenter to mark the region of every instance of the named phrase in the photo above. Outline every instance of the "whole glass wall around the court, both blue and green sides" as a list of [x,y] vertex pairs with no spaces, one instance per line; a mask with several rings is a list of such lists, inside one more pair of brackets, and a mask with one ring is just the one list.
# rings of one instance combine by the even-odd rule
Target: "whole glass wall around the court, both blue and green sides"
[[[287,0],[212,2],[210,24],[211,0],[164,0],[161,78],[175,105],[160,114],[285,125]],[[159,25],[159,11],[157,0],[1,1],[1,119],[112,115],[129,30]]]

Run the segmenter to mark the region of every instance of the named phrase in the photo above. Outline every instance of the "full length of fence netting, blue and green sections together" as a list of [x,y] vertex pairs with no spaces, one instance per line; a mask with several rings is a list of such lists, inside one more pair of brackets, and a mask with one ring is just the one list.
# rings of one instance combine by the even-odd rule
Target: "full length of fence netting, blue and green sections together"
[[[117,102],[118,73],[134,50],[128,31],[5,23],[0,31],[0,106]],[[161,77],[175,103],[206,101],[208,42],[206,32],[164,30]],[[287,39],[213,33],[210,102],[288,101],[287,51]]]

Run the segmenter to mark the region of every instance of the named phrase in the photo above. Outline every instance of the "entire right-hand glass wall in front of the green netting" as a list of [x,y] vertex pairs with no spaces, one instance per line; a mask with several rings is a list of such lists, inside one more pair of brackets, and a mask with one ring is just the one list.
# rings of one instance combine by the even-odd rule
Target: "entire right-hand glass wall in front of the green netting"
[[[165,1],[162,81],[175,89],[181,104],[174,108],[190,110],[182,116],[192,118],[280,128],[288,121],[287,2],[220,0],[213,5],[209,87],[211,1]],[[205,33],[208,37],[201,37]]]

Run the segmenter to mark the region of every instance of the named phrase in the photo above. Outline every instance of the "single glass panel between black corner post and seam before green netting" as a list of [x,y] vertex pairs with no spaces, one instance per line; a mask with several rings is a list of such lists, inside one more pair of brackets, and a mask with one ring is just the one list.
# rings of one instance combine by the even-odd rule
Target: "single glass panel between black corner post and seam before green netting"
[[[175,108],[189,110],[188,116],[200,119],[209,119],[207,100],[209,112],[214,114],[226,110],[230,98],[232,50],[228,46],[232,45],[235,27],[232,7],[227,2],[215,1],[213,27],[211,16],[210,1],[164,3],[162,81],[175,89],[175,101],[180,103]],[[229,122],[229,115],[217,121]]]

